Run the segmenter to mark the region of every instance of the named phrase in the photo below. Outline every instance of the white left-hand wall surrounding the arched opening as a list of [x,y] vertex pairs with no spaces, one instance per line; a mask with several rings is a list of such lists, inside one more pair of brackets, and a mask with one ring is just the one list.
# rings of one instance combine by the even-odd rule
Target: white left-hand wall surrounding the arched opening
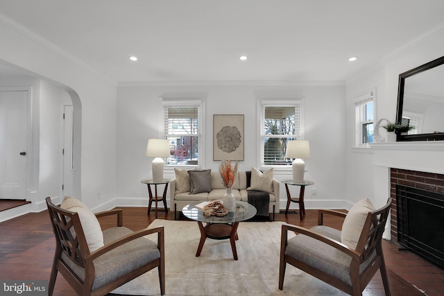
[[[74,105],[76,142],[74,147],[76,195],[93,208],[99,207],[106,200],[114,199],[116,84],[52,44],[32,35],[19,24],[8,20],[0,22],[0,37],[1,63],[51,82],[65,89],[71,96]],[[38,110],[34,115],[39,116]],[[37,139],[40,138],[38,128],[33,130],[33,134]],[[34,150],[39,149],[38,143],[33,145]],[[99,192],[102,200],[97,198]],[[41,198],[44,195],[43,192],[37,193],[40,200],[36,202],[42,202]],[[44,208],[46,206],[33,210]]]

